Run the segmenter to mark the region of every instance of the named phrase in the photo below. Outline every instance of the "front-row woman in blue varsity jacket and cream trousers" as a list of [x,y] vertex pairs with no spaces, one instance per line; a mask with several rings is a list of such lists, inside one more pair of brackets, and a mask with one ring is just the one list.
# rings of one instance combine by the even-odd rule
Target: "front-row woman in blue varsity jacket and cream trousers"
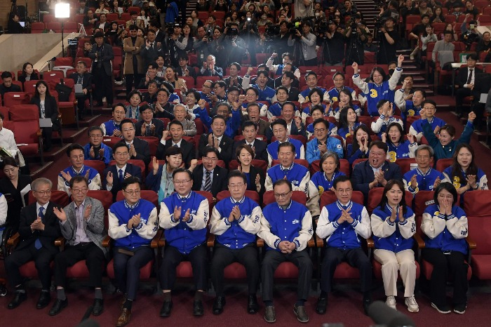
[[379,206],[370,217],[375,251],[373,258],[382,265],[386,305],[396,309],[398,272],[404,284],[404,302],[409,312],[418,312],[415,300],[416,263],[412,251],[416,232],[415,213],[405,203],[400,180],[389,180]]

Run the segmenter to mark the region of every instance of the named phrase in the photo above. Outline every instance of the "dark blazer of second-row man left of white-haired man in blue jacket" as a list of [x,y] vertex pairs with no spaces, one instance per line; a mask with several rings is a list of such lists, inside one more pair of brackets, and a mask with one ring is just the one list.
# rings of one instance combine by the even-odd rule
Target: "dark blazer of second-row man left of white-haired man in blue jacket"
[[[386,180],[403,180],[401,168],[396,165],[396,163],[385,161],[382,166],[382,171],[384,171],[384,178]],[[368,184],[373,182],[374,179],[375,175],[368,160],[358,163],[353,167],[351,182],[353,182],[353,187],[356,191],[361,191],[363,193],[363,196],[365,196],[365,203],[368,200],[368,192],[370,192]],[[382,184],[379,183],[377,187],[382,187]]]

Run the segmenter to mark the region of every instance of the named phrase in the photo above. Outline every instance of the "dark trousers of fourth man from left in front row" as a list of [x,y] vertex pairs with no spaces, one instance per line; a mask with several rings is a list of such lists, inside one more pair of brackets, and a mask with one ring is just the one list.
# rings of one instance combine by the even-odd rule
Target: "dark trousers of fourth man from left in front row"
[[191,262],[193,268],[193,280],[196,290],[206,289],[206,269],[208,255],[206,245],[196,246],[189,254],[180,253],[174,246],[166,246],[163,253],[162,265],[159,270],[159,278],[163,290],[172,290],[175,283],[175,269],[182,261]]

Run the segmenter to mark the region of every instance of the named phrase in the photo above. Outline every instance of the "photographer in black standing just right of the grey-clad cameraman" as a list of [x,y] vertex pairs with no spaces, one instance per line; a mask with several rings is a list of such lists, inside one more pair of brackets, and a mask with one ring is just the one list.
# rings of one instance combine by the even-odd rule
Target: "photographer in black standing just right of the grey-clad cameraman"
[[332,20],[321,22],[318,28],[318,45],[322,46],[323,61],[328,66],[341,66],[344,58],[346,37],[336,29],[337,25]]

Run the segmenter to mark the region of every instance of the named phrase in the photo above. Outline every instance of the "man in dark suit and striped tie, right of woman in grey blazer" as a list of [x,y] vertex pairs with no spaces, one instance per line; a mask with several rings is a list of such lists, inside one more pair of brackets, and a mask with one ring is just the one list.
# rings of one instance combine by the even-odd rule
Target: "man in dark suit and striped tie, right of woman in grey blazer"
[[218,192],[227,189],[228,171],[217,166],[218,154],[214,147],[206,147],[203,151],[203,163],[193,170],[193,191],[208,191],[217,197]]

